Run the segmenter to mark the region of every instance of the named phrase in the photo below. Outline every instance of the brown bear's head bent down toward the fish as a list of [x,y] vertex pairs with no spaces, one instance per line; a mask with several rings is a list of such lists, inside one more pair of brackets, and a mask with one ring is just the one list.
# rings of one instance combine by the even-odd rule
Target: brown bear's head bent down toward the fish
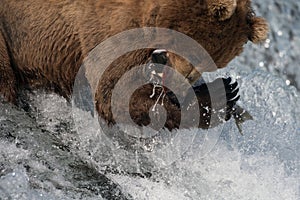
[[[208,52],[217,68],[225,67],[239,55],[248,41],[257,44],[267,38],[268,24],[255,15],[251,0],[163,2],[149,7],[145,25],[173,29],[193,38]],[[198,80],[203,71],[214,70],[198,66],[203,69],[199,72],[184,58],[172,53],[169,59],[190,83]]]

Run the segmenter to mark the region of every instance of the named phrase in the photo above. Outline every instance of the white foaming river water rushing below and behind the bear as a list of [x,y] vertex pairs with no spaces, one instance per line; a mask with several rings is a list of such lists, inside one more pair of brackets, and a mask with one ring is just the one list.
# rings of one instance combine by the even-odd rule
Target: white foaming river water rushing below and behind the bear
[[0,103],[0,199],[300,199],[300,3],[256,0],[255,9],[271,24],[266,43],[205,75],[239,82],[239,105],[254,118],[243,136],[230,120],[217,143],[182,130],[177,150],[127,152],[94,134],[89,113],[35,91],[29,112]]

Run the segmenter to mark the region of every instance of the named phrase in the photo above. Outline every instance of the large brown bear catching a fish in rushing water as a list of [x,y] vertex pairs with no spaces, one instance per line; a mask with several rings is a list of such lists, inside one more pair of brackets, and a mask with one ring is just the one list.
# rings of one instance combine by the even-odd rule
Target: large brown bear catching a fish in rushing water
[[[259,43],[268,32],[266,21],[254,15],[251,0],[0,0],[0,4],[0,94],[13,103],[23,88],[45,88],[70,99],[84,58],[105,39],[125,30],[160,27],[181,32],[201,44],[218,68],[239,55],[247,41]],[[201,77],[201,72],[171,52],[144,49],[127,53],[99,81],[94,98],[101,118],[115,122],[110,100],[116,82],[149,60],[170,64],[191,84]],[[230,79],[223,81],[229,119],[238,89]],[[207,84],[195,86],[194,91],[200,105],[199,127],[208,128]],[[152,92],[153,85],[147,84],[131,97],[130,115],[138,125],[150,123],[149,110],[157,99],[149,97]],[[178,105],[172,91],[165,93],[163,105],[168,115],[164,126],[178,128],[185,108]]]

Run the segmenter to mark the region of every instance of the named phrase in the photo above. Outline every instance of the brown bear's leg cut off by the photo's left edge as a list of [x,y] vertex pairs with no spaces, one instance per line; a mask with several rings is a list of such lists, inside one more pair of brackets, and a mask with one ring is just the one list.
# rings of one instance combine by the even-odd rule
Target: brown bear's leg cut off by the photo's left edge
[[16,77],[11,67],[8,49],[0,31],[0,97],[16,103]]

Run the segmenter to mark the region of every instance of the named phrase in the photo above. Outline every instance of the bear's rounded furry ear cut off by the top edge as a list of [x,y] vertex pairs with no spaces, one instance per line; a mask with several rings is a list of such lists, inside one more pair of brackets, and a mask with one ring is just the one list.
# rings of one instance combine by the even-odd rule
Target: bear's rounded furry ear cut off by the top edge
[[206,3],[209,14],[219,21],[229,19],[237,7],[237,0],[206,0]]

